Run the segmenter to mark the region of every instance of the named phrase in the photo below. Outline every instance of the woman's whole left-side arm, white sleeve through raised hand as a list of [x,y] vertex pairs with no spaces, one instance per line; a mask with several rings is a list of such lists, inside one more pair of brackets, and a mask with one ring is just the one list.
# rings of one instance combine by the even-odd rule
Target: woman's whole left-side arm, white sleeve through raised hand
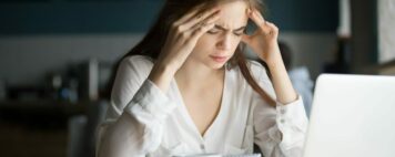
[[[100,128],[99,157],[145,156],[159,147],[163,122],[175,107],[164,93],[200,36],[219,18],[217,9],[200,11],[194,9],[173,23],[148,78],[139,77],[141,70],[133,63],[120,66],[108,116],[114,123]],[[131,95],[134,96],[130,100]]]

